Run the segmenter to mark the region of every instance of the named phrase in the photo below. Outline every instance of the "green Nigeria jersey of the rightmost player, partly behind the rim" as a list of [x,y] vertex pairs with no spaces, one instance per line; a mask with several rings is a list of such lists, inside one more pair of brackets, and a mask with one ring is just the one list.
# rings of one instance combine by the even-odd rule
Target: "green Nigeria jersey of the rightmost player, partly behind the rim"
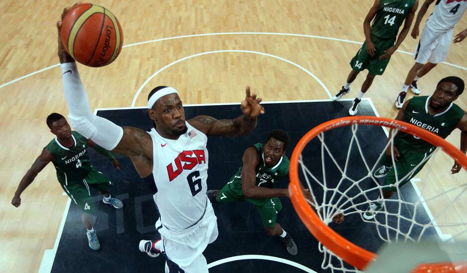
[[[464,116],[464,110],[451,103],[448,108],[439,114],[428,113],[428,102],[431,96],[413,97],[404,111],[404,122],[413,124],[434,133],[442,138],[448,137]],[[424,152],[432,151],[433,145],[419,137],[399,132],[396,136],[414,149]]]

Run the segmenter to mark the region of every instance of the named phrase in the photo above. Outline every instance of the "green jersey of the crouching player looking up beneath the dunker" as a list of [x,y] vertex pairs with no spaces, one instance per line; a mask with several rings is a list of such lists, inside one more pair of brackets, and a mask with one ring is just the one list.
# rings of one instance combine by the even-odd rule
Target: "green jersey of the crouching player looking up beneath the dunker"
[[[265,188],[274,188],[274,183],[277,183],[281,178],[289,174],[289,165],[290,161],[287,156],[283,155],[277,164],[268,168],[264,163],[264,147],[263,143],[256,143],[251,147],[255,147],[256,151],[259,154],[259,164],[256,165],[256,186],[265,187]],[[243,164],[242,164],[243,165]],[[241,168],[238,169],[234,177],[241,177]]]

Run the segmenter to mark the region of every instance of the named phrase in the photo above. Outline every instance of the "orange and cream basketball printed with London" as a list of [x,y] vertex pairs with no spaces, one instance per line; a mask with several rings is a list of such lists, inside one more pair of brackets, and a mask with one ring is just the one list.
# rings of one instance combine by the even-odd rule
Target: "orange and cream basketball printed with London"
[[65,14],[60,36],[68,53],[88,67],[106,66],[122,50],[123,33],[117,17],[91,3],[78,4]]

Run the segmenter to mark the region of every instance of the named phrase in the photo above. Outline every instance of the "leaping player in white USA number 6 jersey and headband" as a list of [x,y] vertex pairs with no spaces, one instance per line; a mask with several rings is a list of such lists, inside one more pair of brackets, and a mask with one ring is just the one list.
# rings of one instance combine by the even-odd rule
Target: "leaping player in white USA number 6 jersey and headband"
[[[62,18],[68,10],[64,9]],[[148,133],[133,127],[122,128],[91,113],[75,60],[60,39],[61,22],[57,27],[58,56],[71,124],[107,150],[128,155],[141,177],[154,175],[157,187],[154,201],[160,212],[156,225],[161,226],[162,240],[154,244],[143,242],[140,250],[148,254],[162,252],[166,273],[207,273],[202,252],[217,238],[218,232],[217,218],[206,196],[207,136],[247,135],[255,128],[257,116],[264,114],[259,104],[261,98],[254,93],[250,95],[247,86],[241,116],[232,120],[197,116],[187,122],[178,92],[159,86],[148,98],[148,114],[154,121],[154,129]]]

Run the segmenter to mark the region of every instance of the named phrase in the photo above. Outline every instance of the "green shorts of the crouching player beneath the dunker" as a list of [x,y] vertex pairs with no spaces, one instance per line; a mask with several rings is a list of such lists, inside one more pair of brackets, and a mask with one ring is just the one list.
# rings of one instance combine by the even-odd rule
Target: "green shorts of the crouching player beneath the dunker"
[[218,202],[246,201],[256,206],[265,227],[276,225],[277,213],[282,209],[279,198],[250,199],[243,196],[241,178],[233,177],[224,188],[219,191]]

